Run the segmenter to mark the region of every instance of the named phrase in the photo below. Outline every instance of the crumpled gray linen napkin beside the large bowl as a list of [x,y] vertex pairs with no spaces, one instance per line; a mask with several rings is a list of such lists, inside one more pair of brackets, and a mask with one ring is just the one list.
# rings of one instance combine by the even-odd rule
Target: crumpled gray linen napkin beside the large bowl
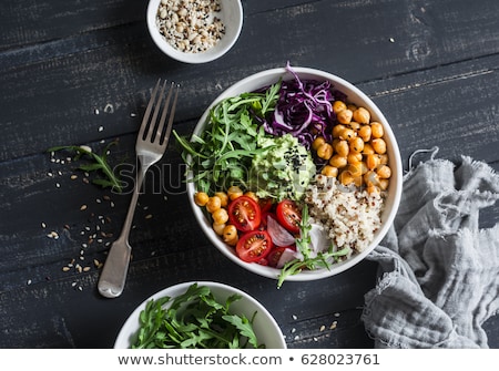
[[[436,148],[438,151],[438,148]],[[488,348],[481,324],[499,310],[499,223],[480,229],[499,199],[499,174],[462,157],[420,163],[404,177],[361,319],[376,348]]]

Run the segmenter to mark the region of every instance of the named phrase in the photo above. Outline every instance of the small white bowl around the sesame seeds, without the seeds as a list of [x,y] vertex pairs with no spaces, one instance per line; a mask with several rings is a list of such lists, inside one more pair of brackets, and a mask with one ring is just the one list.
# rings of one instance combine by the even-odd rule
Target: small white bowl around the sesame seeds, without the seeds
[[221,11],[216,14],[225,24],[225,34],[212,48],[203,52],[183,52],[172,47],[160,33],[156,14],[161,0],[151,0],[147,6],[147,29],[154,43],[166,55],[184,63],[206,63],[224,55],[237,41],[243,28],[243,6],[241,0],[220,0]]

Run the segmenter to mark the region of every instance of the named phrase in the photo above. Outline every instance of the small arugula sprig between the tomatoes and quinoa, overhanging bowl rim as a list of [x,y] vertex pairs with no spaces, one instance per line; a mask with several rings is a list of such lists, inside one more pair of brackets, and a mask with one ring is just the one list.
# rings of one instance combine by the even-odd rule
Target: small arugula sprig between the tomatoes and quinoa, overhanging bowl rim
[[284,281],[287,277],[297,275],[304,269],[318,269],[318,268],[327,268],[329,269],[333,262],[339,260],[340,257],[350,253],[349,247],[345,247],[340,250],[335,251],[334,245],[330,244],[327,251],[319,251],[316,256],[312,256],[312,239],[310,239],[310,229],[312,225],[309,223],[308,216],[308,206],[305,204],[302,209],[302,221],[299,225],[301,234],[299,237],[296,238],[296,249],[302,253],[303,259],[293,259],[284,265],[281,269],[278,279],[277,279],[277,288],[283,286]]

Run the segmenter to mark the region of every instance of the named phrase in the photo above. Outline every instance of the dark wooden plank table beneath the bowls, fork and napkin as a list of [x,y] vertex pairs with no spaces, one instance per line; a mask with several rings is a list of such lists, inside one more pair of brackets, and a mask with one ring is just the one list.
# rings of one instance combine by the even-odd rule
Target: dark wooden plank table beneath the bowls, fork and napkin
[[[88,184],[92,175],[47,148],[85,144],[100,151],[118,140],[110,161],[133,164],[138,127],[160,76],[182,84],[175,128],[187,135],[210,102],[242,78],[287,61],[326,70],[379,105],[406,167],[414,151],[437,145],[439,157],[458,162],[465,154],[499,169],[497,0],[243,6],[234,49],[215,62],[189,65],[153,44],[146,1],[2,1],[1,348],[111,348],[135,306],[190,280],[222,281],[253,295],[275,316],[289,348],[373,347],[360,313],[376,265],[279,290],[241,269],[196,226],[174,145],[161,164],[171,181],[160,182],[154,171],[147,175],[124,293],[113,300],[98,293],[95,262],[105,260],[108,243],[121,229],[130,193]],[[498,207],[481,221],[498,223]],[[490,347],[499,348],[499,318],[485,327]]]

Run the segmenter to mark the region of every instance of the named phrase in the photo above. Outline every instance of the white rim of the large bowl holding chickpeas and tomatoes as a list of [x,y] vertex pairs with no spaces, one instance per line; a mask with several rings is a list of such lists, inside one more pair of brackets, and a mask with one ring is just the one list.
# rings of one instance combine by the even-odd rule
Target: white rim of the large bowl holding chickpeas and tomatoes
[[[333,87],[336,90],[342,91],[347,95],[347,100],[352,103],[355,103],[359,106],[364,106],[367,110],[369,110],[371,117],[375,121],[378,121],[383,124],[385,130],[384,140],[387,144],[387,154],[389,156],[389,164],[391,168],[391,177],[390,177],[390,184],[388,188],[388,195],[385,198],[385,208],[381,214],[381,228],[379,228],[375,236],[373,241],[368,247],[366,247],[361,253],[356,254],[352,256],[349,259],[344,260],[339,264],[335,264],[330,267],[330,269],[317,269],[317,270],[303,270],[302,272],[288,276],[286,280],[288,281],[308,281],[308,280],[315,280],[315,279],[322,279],[326,277],[330,277],[334,275],[337,275],[342,271],[347,270],[348,268],[352,268],[359,261],[361,261],[383,239],[383,237],[388,233],[389,227],[391,226],[395,215],[397,214],[397,209],[400,203],[400,195],[401,195],[401,185],[403,185],[403,169],[401,169],[401,159],[400,159],[400,153],[398,150],[397,141],[395,138],[395,135],[390,128],[390,125],[388,124],[387,120],[383,115],[381,111],[376,106],[376,104],[366,95],[364,94],[359,89],[354,86],[352,83],[345,81],[344,79],[340,79],[334,74],[330,74],[328,72],[308,69],[308,68],[293,68],[293,70],[298,74],[301,79],[312,79],[312,80],[319,80],[319,81],[330,81],[333,84]],[[263,71],[256,74],[253,74],[246,79],[241,80],[240,82],[235,83],[227,90],[225,90],[210,105],[210,107],[204,112],[202,117],[200,118],[196,127],[194,128],[194,135],[201,136],[204,127],[207,124],[207,118],[210,114],[210,110],[212,106],[221,102],[222,100],[231,96],[238,95],[244,92],[252,92],[255,90],[258,90],[261,87],[271,85],[273,83],[276,83],[279,78],[283,78],[283,80],[292,80],[293,76],[289,72],[286,71],[286,69],[273,69]],[[195,218],[197,219],[201,228],[203,229],[204,234],[210,238],[210,240],[215,245],[215,247],[224,254],[228,259],[234,261],[235,264],[240,265],[244,269],[247,269],[254,274],[268,277],[268,278],[277,278],[279,274],[279,269],[263,266],[257,262],[245,262],[241,260],[236,254],[234,248],[226,245],[213,230],[212,225],[210,220],[206,218],[206,216],[203,214],[203,209],[198,207],[194,203],[194,194],[196,193],[195,185],[190,182],[187,183],[187,194],[189,199],[192,206],[192,209],[194,212]]]

